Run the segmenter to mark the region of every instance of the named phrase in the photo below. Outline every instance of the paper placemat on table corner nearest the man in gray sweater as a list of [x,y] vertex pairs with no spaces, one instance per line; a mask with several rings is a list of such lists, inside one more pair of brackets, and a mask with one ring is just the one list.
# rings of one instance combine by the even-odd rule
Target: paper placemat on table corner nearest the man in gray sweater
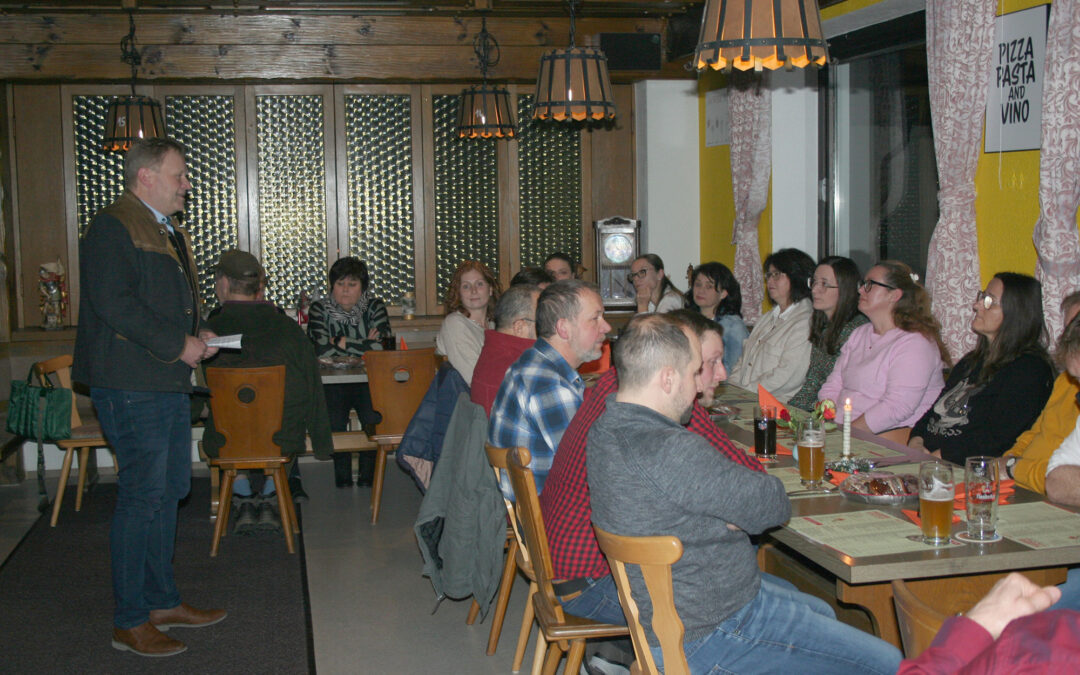
[[922,530],[905,518],[882,511],[852,511],[792,518],[787,527],[811,541],[835,549],[851,557],[912,553],[958,546],[948,543],[931,546],[908,537],[921,537]]

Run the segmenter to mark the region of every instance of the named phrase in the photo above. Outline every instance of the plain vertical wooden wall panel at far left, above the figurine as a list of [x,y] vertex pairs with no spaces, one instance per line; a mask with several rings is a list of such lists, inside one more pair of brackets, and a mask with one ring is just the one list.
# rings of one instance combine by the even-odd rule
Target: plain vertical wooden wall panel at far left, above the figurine
[[57,199],[64,189],[60,86],[16,85],[13,108],[21,202],[16,228],[22,269],[16,283],[23,301],[17,327],[38,326],[38,266],[58,258],[68,270],[68,279],[72,269],[65,200]]

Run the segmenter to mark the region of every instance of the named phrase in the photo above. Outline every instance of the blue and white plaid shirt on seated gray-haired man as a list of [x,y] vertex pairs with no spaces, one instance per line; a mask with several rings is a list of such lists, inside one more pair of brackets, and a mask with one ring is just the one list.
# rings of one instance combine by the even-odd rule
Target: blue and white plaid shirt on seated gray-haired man
[[[540,494],[555,449],[581,407],[584,391],[578,372],[541,338],[510,366],[495,396],[487,442],[497,447],[528,448],[532,455],[529,468]],[[505,474],[499,487],[507,499],[514,498]]]

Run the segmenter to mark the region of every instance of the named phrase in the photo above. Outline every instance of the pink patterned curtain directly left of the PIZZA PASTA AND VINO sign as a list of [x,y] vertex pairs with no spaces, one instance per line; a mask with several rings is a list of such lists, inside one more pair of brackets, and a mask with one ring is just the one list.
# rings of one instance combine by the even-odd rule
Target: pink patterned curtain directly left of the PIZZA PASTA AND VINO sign
[[975,347],[971,302],[982,287],[975,164],[982,151],[997,6],[996,0],[927,1],[927,69],[940,186],[927,288],[954,360]]

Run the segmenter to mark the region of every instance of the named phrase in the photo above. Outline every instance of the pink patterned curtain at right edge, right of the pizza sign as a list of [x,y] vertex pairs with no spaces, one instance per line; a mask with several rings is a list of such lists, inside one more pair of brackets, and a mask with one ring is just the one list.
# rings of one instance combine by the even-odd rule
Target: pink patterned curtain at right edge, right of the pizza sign
[[1054,0],[1047,33],[1039,160],[1036,279],[1051,339],[1064,327],[1062,298],[1080,289],[1080,0]]

